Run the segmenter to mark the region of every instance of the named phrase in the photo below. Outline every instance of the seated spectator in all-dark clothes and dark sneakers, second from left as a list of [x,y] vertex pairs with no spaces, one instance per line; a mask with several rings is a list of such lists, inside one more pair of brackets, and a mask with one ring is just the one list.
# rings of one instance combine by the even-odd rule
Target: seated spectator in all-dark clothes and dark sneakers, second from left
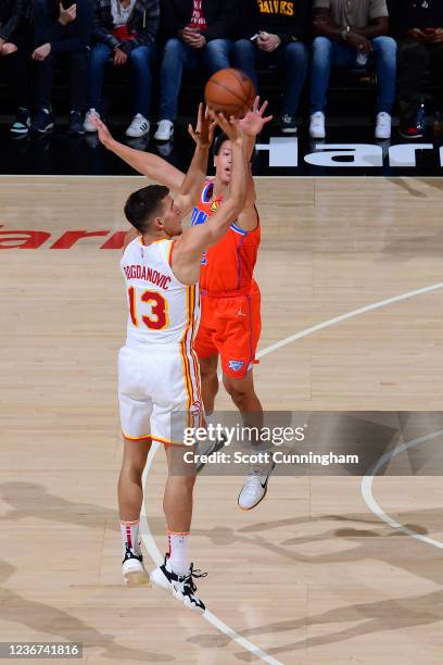
[[68,133],[83,134],[81,113],[86,106],[89,42],[92,11],[89,0],[33,0],[33,60],[37,63],[37,114],[30,128],[47,134],[54,126],[52,115],[52,78],[55,61],[66,55],[71,75],[71,117]]

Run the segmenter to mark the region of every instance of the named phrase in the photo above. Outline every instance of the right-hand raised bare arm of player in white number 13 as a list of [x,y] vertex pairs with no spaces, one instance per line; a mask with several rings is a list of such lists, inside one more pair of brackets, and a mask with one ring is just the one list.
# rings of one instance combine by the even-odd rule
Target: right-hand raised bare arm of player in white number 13
[[198,281],[203,253],[223,238],[243,209],[246,198],[249,160],[244,149],[244,135],[233,118],[227,121],[218,114],[216,122],[231,141],[232,174],[229,196],[205,224],[188,228],[175,242],[173,269],[177,279],[183,284]]

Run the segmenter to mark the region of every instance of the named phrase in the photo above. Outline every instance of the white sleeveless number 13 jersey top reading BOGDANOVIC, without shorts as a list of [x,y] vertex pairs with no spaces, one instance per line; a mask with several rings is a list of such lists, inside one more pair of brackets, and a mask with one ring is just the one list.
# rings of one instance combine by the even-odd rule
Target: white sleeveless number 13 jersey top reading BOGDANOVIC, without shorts
[[121,267],[129,310],[127,347],[185,344],[185,352],[191,350],[200,321],[199,287],[186,286],[175,277],[173,251],[174,240],[145,246],[141,237],[125,249]]

